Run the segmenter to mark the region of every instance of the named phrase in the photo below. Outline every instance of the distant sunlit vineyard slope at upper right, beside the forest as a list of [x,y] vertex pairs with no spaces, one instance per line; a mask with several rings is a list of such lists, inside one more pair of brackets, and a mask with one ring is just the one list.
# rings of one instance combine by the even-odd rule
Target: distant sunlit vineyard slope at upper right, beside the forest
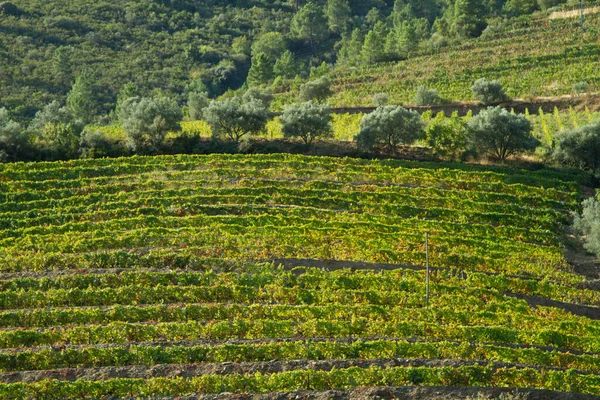
[[[590,15],[582,34],[577,18],[516,20],[433,54],[335,68],[330,102],[333,107],[371,106],[375,93],[386,93],[392,104],[411,104],[420,85],[437,89],[449,101],[471,101],[471,86],[478,78],[499,79],[515,98],[573,94],[573,85],[580,81],[597,92],[599,23],[597,15]],[[276,103],[282,107],[296,96],[293,86]]]

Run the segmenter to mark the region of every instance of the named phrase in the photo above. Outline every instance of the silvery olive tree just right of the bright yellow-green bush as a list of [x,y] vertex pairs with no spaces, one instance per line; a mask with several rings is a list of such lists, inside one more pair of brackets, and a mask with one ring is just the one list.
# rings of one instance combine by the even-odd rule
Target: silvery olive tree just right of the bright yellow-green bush
[[501,107],[489,107],[468,123],[471,147],[487,156],[506,160],[517,153],[535,150],[538,141],[531,134],[531,123],[522,115]]

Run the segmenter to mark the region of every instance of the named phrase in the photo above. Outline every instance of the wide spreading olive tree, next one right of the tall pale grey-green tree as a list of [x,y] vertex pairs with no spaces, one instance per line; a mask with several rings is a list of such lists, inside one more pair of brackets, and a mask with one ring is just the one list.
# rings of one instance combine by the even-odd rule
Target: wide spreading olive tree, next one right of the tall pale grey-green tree
[[225,136],[235,142],[239,142],[245,135],[264,131],[269,117],[269,112],[261,101],[252,99],[243,102],[238,97],[213,101],[204,112],[204,119],[215,138]]

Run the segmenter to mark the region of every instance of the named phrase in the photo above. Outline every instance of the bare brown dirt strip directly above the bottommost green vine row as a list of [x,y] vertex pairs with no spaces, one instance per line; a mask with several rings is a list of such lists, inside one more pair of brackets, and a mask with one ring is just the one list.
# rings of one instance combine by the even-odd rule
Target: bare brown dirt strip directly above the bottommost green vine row
[[[203,363],[203,364],[160,364],[155,366],[132,365],[126,367],[100,367],[100,368],[64,368],[43,371],[18,371],[0,374],[0,382],[32,383],[47,379],[61,381],[105,380],[113,378],[158,378],[158,377],[185,377],[190,378],[201,375],[231,375],[231,374],[274,374],[296,370],[331,371],[333,369],[358,368],[394,368],[394,367],[462,367],[469,365],[487,366],[494,369],[500,368],[533,368],[539,371],[566,371],[566,368],[539,367],[535,365],[522,365],[511,363],[493,363],[478,360],[440,360],[440,359],[376,359],[376,360],[295,360],[295,361],[266,361],[247,363]],[[593,375],[586,371],[576,371],[582,375]]]

